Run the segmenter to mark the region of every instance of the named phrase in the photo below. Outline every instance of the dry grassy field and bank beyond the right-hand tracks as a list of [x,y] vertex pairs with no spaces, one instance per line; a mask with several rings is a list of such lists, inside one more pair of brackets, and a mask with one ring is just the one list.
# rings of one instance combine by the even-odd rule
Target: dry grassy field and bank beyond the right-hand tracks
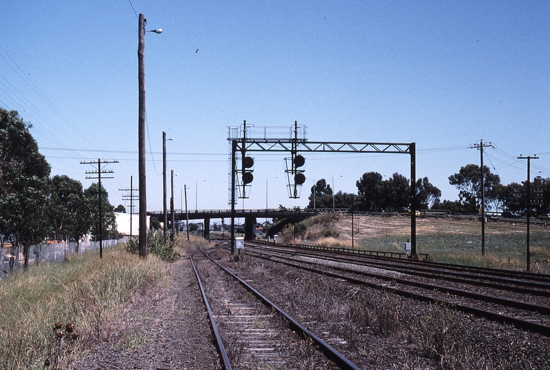
[[[525,269],[524,223],[486,223],[486,256],[481,255],[481,223],[477,219],[416,219],[416,252],[437,262],[503,269]],[[410,217],[356,216],[353,219],[355,249],[405,252],[410,241]],[[351,217],[323,215],[304,221],[305,232],[295,243],[351,248]],[[338,237],[324,237],[329,230]],[[283,234],[293,240],[292,230]],[[550,227],[531,227],[532,271],[550,273]]]

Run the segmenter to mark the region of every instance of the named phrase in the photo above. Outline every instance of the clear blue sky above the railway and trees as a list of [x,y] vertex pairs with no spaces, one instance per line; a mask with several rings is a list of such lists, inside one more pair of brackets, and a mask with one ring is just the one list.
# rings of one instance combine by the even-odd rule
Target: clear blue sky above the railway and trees
[[[176,208],[184,184],[189,208],[226,208],[227,127],[243,120],[298,121],[311,141],[414,142],[417,177],[443,199],[458,198],[449,175],[479,164],[480,139],[503,184],[525,180],[520,154],[550,177],[547,1],[4,1],[0,106],[34,125],[52,175],[88,187],[80,161],[119,160],[103,182],[115,206],[138,182],[136,13],[164,31],[145,42],[149,210],[162,209],[162,131]],[[355,193],[368,171],[410,177],[408,156],[308,153],[294,200],[284,155],[254,157],[246,208],[266,193],[269,207],[305,206],[321,178]]]

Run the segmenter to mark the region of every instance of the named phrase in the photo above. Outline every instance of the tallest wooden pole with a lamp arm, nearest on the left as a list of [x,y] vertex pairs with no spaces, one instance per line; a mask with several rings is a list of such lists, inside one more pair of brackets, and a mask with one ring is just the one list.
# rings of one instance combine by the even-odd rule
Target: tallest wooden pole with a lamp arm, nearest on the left
[[[139,245],[140,258],[147,258],[147,179],[145,175],[145,14],[138,16],[138,175],[139,175]],[[162,29],[151,32],[160,34]]]

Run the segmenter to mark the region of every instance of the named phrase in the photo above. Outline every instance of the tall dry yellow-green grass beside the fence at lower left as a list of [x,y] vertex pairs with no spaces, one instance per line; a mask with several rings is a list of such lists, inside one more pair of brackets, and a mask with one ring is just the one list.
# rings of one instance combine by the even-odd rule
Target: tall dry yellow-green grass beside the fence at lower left
[[[0,368],[57,367],[116,330],[121,303],[140,289],[164,284],[168,269],[154,256],[144,261],[123,246],[40,264],[0,282]],[[67,328],[73,328],[68,330]]]

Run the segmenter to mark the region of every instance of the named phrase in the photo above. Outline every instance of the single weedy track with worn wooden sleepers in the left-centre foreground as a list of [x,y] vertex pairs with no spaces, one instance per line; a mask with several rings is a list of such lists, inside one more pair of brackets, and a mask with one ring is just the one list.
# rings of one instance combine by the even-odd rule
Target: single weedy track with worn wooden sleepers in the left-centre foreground
[[359,369],[208,254],[190,258],[224,369]]

